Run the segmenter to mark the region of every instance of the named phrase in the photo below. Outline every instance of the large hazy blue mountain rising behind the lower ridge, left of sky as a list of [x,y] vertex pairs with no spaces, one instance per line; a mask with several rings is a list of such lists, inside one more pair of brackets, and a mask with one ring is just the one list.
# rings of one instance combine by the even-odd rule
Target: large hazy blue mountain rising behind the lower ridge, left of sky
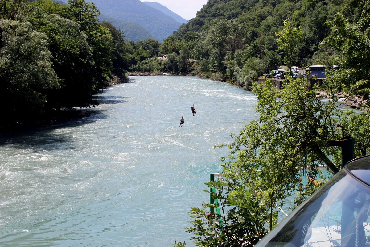
[[159,41],[176,31],[182,23],[139,0],[94,0],[101,14],[131,21],[147,29]]

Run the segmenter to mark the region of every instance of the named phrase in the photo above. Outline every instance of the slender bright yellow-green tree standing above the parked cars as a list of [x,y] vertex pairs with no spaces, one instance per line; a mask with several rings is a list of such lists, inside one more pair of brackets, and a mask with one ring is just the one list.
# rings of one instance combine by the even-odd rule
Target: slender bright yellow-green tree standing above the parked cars
[[284,50],[284,63],[286,64],[288,71],[292,70],[294,57],[298,52],[300,43],[302,42],[303,31],[300,28],[293,26],[292,18],[289,17],[284,20],[284,29],[275,33],[277,36],[277,44],[280,50]]

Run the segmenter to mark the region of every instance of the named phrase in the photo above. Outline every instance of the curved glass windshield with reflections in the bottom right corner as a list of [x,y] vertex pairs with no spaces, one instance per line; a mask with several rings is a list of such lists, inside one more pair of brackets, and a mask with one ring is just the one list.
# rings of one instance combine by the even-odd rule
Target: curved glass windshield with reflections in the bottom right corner
[[[356,168],[352,171],[367,177],[369,164],[369,157],[354,161]],[[349,172],[351,165],[280,222],[256,247],[370,246],[370,187]]]

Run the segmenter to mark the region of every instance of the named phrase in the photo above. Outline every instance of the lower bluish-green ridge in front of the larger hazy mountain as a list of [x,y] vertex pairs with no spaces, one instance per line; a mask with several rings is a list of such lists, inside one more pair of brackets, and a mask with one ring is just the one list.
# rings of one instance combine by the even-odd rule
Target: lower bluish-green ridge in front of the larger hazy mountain
[[146,40],[150,38],[150,39],[161,41],[158,37],[155,37],[147,29],[140,26],[136,22],[122,21],[117,18],[107,16],[104,14],[101,14],[98,18],[100,21],[109,21],[113,24],[113,26],[117,27],[117,29],[121,29],[125,35],[125,40],[138,41],[138,40]]

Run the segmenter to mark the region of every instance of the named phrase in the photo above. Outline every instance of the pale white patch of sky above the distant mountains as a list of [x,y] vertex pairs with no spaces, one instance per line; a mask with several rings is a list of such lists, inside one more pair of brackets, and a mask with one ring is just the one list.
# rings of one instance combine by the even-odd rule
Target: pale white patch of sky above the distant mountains
[[196,12],[202,9],[207,0],[141,0],[160,3],[172,12],[175,12],[185,20],[190,20],[196,16]]

